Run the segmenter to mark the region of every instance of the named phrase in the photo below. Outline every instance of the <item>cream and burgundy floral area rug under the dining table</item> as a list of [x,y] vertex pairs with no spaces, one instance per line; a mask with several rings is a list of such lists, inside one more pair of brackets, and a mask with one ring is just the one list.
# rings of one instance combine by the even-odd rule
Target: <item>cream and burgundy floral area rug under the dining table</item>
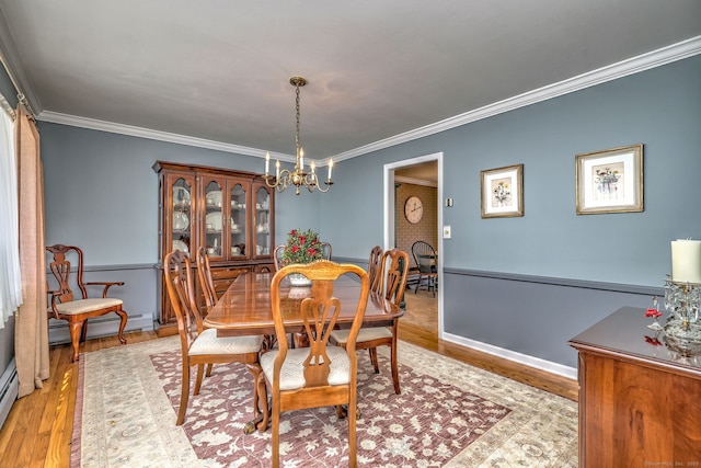
[[[177,346],[172,336],[81,356],[71,466],[271,465],[269,431],[242,432],[253,414],[242,365],[215,366],[175,426]],[[359,354],[359,466],[577,466],[576,403],[405,342],[397,396],[383,350],[379,375]],[[281,424],[283,466],[347,466],[347,422],[333,408],[288,412]]]

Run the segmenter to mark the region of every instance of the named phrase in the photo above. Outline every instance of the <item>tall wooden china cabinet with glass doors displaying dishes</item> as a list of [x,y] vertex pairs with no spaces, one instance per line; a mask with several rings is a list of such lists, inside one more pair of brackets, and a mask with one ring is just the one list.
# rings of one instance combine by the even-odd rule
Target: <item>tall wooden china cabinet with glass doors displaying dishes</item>
[[[274,271],[275,190],[253,172],[165,161],[157,161],[153,170],[159,175],[159,334],[169,334],[176,332],[176,321],[163,283],[165,254],[180,249],[195,264],[197,249],[205,247],[219,295],[243,271]],[[199,284],[196,295],[204,316]]]

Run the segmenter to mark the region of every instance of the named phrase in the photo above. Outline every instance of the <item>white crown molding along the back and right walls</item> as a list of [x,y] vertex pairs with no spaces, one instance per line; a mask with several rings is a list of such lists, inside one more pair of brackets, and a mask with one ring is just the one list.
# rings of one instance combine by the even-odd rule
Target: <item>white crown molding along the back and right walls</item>
[[[0,19],[1,20],[1,19]],[[1,28],[0,28],[1,30]],[[0,36],[0,41],[4,37]],[[343,161],[367,155],[372,151],[389,148],[403,142],[412,141],[418,138],[423,138],[429,135],[435,135],[440,132],[449,130],[451,128],[459,127],[472,122],[481,121],[483,118],[492,117],[497,114],[514,111],[519,107],[525,107],[530,104],[547,101],[553,98],[568,94],[575,91],[579,91],[585,88],[590,88],[597,84],[605,83],[607,81],[617,80],[630,75],[639,73],[652,68],[660,67],[663,65],[670,64],[673,61],[682,60],[688,57],[701,54],[701,36],[692,37],[687,41],[682,41],[677,44],[673,44],[667,47],[663,47],[657,50],[650,52],[647,54],[633,57],[618,64],[609,65],[607,67],[593,70],[577,77],[570,78],[558,83],[549,84],[522,94],[518,94],[513,98],[505,99],[503,101],[485,105],[474,111],[467,112],[464,114],[456,115],[453,117],[446,118],[434,124],[425,125],[423,127],[405,132],[403,134],[395,135],[390,138],[386,138],[369,145],[365,145],[349,151],[341,152],[333,157],[336,161]],[[28,88],[27,88],[28,89]],[[32,101],[31,101],[32,102]],[[41,109],[36,106],[35,109]],[[165,132],[151,130],[148,128],[134,127],[122,124],[114,124],[104,121],[95,121],[91,118],[79,117],[74,115],[59,114],[55,112],[45,111],[38,115],[38,119],[43,122],[51,122],[57,124],[71,125],[82,128],[91,128],[102,132],[111,132],[115,134],[131,135],[140,138],[150,138],[161,141],[169,141],[179,145],[188,145],[206,149],[214,149],[217,151],[233,152],[238,155],[252,156],[257,158],[264,158],[265,151],[256,148],[249,148],[238,145],[225,144],[220,141],[206,140],[202,138],[187,137],[183,135],[169,134]],[[283,161],[294,162],[295,157],[291,155],[271,153],[274,159]],[[320,167],[327,164],[329,159],[320,161]]]

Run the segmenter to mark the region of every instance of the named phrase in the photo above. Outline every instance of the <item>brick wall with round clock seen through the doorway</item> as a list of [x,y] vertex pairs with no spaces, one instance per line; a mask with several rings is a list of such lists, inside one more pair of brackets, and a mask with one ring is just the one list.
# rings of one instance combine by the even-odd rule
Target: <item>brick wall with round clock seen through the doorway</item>
[[[404,203],[415,195],[424,204],[424,216],[415,225],[406,220],[404,216]],[[409,254],[410,265],[415,266],[412,256],[412,244],[417,240],[438,246],[438,190],[424,185],[401,183],[397,190],[397,248]]]

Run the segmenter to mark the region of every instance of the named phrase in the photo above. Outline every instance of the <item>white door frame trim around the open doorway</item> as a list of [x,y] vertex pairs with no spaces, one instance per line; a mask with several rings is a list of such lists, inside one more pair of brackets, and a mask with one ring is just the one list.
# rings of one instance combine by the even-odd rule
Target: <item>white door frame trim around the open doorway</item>
[[[438,222],[436,226],[438,246],[436,246],[439,255],[443,255],[445,252],[444,242],[443,242],[443,151],[434,152],[430,155],[418,156],[415,158],[403,159],[401,161],[390,162],[384,164],[384,246],[383,249],[388,250],[394,247],[395,239],[395,213],[397,213],[397,199],[394,197],[394,171],[401,168],[405,168],[407,165],[421,164],[423,162],[438,161],[438,186],[437,186],[437,196],[436,196],[436,213],[438,215]],[[411,254],[411,252],[407,252]],[[443,265],[444,261],[438,262],[438,294],[436,295],[438,298],[438,338],[441,338],[444,334],[443,328],[443,297],[444,297],[444,279],[443,279]]]

